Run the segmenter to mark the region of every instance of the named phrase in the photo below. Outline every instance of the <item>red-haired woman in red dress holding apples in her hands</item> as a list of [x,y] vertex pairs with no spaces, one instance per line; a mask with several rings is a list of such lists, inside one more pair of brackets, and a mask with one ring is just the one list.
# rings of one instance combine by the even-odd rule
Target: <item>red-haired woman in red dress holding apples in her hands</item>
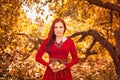
[[[36,61],[47,66],[43,80],[72,80],[70,67],[78,62],[78,57],[73,40],[64,37],[65,31],[63,19],[56,18],[51,25],[48,38],[43,41],[36,54]],[[42,59],[44,52],[49,54],[49,62]],[[72,60],[68,62],[69,52]]]

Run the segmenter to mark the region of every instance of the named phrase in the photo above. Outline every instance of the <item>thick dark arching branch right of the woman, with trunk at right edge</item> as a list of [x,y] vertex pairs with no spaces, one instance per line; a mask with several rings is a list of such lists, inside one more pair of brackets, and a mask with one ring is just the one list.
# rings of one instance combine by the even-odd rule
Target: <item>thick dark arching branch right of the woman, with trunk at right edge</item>
[[[83,35],[81,37],[82,39],[89,35],[92,36],[94,38],[95,42],[96,41],[99,42],[109,52],[109,54],[113,60],[114,66],[115,66],[115,71],[116,71],[117,75],[120,77],[120,29],[118,29],[116,31],[116,42],[117,42],[116,47],[114,47],[110,42],[107,41],[107,39],[105,39],[100,33],[98,33],[95,30],[76,32],[69,37],[73,38],[73,37],[76,37],[79,35]],[[80,39],[80,41],[82,39]],[[89,55],[90,54],[87,54],[87,56],[89,56]]]

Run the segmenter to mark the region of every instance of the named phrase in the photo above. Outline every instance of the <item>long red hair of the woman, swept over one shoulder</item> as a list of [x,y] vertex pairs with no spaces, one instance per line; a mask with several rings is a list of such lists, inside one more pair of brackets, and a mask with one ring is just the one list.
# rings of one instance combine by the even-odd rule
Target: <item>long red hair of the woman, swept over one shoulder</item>
[[64,32],[66,31],[66,24],[64,22],[63,19],[61,18],[56,18],[52,25],[51,25],[51,28],[50,28],[50,31],[49,31],[49,34],[48,34],[48,38],[47,38],[47,52],[50,51],[50,46],[54,43],[56,37],[55,37],[55,34],[54,34],[54,27],[55,27],[55,24],[58,23],[58,22],[62,22],[63,23],[63,26],[64,26]]

